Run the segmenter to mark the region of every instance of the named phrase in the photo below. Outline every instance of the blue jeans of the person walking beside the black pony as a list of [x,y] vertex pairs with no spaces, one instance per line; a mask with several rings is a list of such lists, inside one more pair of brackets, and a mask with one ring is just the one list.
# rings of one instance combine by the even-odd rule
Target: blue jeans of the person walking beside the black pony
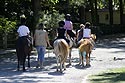
[[37,49],[37,53],[38,53],[38,61],[43,62],[45,52],[46,52],[46,47],[45,46],[36,46],[36,49]]

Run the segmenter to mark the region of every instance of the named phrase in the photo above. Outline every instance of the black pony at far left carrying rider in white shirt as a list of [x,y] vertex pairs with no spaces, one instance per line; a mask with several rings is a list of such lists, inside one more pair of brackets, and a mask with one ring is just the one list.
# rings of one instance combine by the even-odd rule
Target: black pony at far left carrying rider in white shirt
[[17,53],[17,70],[20,70],[20,65],[23,65],[23,71],[25,69],[26,58],[28,57],[28,67],[30,68],[30,54],[32,51],[32,37],[18,38],[16,42],[16,53]]

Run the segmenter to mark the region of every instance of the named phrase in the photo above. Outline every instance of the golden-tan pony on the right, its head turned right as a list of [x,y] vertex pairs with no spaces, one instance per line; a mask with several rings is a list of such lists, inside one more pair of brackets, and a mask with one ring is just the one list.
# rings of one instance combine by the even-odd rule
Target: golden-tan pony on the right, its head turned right
[[96,40],[96,35],[95,34],[91,34],[91,38],[90,39],[81,39],[80,40],[80,45],[78,47],[79,49],[79,64],[81,64],[84,66],[84,57],[86,58],[86,66],[90,66],[90,54],[92,52],[93,46],[92,46],[92,42],[94,42]]

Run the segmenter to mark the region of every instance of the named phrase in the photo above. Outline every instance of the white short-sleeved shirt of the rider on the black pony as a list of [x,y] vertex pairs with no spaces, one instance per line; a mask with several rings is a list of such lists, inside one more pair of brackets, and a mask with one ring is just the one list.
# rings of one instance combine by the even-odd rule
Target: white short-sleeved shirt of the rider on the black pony
[[17,32],[19,34],[19,37],[22,37],[22,36],[27,36],[30,31],[29,31],[29,28],[27,26],[21,25],[21,26],[19,26]]

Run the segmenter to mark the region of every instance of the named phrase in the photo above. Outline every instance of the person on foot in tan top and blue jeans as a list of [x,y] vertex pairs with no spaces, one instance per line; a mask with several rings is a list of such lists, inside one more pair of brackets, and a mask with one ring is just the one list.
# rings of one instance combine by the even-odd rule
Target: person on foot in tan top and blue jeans
[[36,67],[43,68],[46,47],[47,45],[51,47],[48,33],[44,30],[43,23],[40,23],[38,29],[35,30],[34,41],[38,53],[38,64]]

